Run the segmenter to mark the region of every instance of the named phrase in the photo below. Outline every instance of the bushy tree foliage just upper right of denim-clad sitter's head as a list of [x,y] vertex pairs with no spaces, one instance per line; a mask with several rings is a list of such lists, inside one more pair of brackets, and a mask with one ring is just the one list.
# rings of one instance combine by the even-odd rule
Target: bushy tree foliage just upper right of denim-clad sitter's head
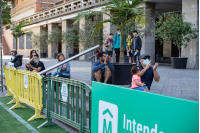
[[[68,28],[65,32],[62,33],[63,42],[66,43],[66,48],[75,48],[79,44],[79,28],[72,27]],[[77,45],[75,45],[77,44]]]

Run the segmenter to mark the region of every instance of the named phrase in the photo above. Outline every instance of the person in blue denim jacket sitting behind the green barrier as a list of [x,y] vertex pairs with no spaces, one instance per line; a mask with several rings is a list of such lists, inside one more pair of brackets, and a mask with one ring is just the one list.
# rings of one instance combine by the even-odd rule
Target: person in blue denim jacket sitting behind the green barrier
[[[65,57],[62,53],[59,53],[57,55],[56,59],[58,60],[58,62],[56,64],[58,64],[58,63],[64,61]],[[52,74],[52,76],[58,76],[58,77],[70,79],[71,75],[70,75],[70,64],[69,64],[69,62],[57,67],[57,72],[54,72]]]

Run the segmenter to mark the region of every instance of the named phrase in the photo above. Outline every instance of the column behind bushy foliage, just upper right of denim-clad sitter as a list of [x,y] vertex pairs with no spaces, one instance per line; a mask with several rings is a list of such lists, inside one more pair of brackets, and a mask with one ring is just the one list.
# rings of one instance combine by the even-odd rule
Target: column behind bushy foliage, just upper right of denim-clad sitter
[[[68,28],[72,27],[71,20],[62,20],[62,31],[66,31]],[[62,53],[66,58],[69,58],[69,54],[73,54],[73,48],[66,48],[66,43],[62,43]]]

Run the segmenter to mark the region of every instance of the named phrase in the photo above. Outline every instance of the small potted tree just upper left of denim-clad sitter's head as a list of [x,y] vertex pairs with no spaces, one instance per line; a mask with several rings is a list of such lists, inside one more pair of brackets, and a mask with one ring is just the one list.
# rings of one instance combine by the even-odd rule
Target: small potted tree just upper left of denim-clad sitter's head
[[58,54],[58,43],[63,40],[62,31],[57,27],[48,33],[47,44],[52,45],[56,48],[56,53],[53,53],[53,58],[56,59]]

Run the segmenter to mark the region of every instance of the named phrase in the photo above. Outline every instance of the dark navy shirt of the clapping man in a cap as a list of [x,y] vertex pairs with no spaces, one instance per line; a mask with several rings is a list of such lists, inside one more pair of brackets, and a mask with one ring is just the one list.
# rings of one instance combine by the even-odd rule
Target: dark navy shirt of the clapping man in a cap
[[[141,68],[144,69],[142,66]],[[142,83],[144,82],[149,90],[153,81],[153,77],[154,77],[153,67],[149,67],[149,69],[147,69],[146,72],[141,77]]]

